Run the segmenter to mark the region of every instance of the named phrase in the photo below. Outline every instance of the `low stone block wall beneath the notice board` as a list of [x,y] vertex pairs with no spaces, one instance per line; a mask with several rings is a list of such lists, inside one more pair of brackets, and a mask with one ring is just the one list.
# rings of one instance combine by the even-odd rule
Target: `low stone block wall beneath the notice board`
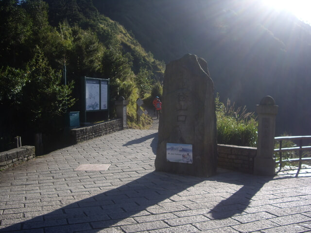
[[95,137],[123,130],[122,119],[70,130],[71,143],[76,144]]

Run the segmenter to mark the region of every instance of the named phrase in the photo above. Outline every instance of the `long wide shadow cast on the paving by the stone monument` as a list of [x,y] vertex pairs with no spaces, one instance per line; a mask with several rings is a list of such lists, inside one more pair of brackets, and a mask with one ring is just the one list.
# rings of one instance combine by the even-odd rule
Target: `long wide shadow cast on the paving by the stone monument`
[[[184,191],[203,179],[168,176],[162,172],[148,173],[118,188],[76,201],[49,214],[2,228],[0,232],[60,233],[87,231],[136,223],[126,218],[136,215],[171,196]],[[158,206],[158,208],[160,208]],[[122,225],[124,224],[121,223]],[[120,225],[121,225],[120,224]],[[41,229],[41,230],[40,230]]]

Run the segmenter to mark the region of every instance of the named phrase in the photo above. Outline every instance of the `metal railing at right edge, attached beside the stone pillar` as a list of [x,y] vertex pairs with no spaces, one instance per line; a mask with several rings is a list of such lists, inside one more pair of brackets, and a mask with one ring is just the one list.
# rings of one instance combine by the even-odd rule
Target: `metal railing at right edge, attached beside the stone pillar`
[[[298,176],[300,169],[301,169],[301,164],[302,161],[306,161],[306,160],[310,160],[311,161],[311,157],[309,158],[302,158],[302,151],[304,150],[311,150],[311,146],[302,146],[302,141],[306,140],[306,139],[311,139],[311,136],[287,136],[287,137],[275,137],[274,138],[275,141],[279,141],[279,148],[278,149],[274,149],[275,152],[279,153],[280,159],[279,161],[276,161],[276,164],[279,163],[279,171],[282,168],[282,162],[295,162],[295,161],[299,161],[299,166],[298,166],[298,170],[296,173],[296,176]],[[289,140],[299,140],[298,143],[298,147],[291,147],[291,148],[282,148],[282,142],[283,141],[289,141]],[[291,158],[291,159],[286,159],[286,160],[282,160],[282,152],[288,152],[288,151],[298,151],[298,155],[299,158]]]

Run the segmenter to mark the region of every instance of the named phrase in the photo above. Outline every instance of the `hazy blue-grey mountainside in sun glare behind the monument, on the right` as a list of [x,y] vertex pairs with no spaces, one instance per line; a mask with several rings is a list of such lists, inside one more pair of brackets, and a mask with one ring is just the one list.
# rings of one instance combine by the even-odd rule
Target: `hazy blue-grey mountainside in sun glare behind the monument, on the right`
[[279,106],[277,135],[311,134],[311,26],[260,0],[93,0],[155,58],[207,61],[223,102]]

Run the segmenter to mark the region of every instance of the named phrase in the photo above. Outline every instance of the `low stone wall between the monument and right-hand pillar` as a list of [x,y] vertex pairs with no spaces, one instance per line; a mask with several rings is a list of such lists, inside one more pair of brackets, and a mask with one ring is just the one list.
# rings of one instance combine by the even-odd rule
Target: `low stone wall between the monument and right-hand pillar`
[[253,174],[256,154],[255,147],[218,144],[218,167]]

